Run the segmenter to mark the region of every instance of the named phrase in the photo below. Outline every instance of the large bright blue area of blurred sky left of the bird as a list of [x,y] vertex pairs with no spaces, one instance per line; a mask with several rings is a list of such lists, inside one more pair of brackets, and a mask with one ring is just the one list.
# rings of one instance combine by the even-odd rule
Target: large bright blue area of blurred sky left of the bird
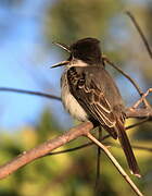
[[[49,52],[45,49],[41,39],[41,24],[38,21],[41,15],[37,13],[42,13],[40,12],[43,9],[41,1],[36,0],[25,0],[20,9],[8,9],[3,3],[0,4],[1,27],[5,27],[5,34],[0,38],[1,87],[45,91],[41,81],[43,83],[42,77],[46,77],[48,86],[50,83],[50,93],[52,87],[53,93],[60,95],[59,90],[55,91],[58,82],[55,75],[58,75],[59,70],[49,69],[52,63],[58,61],[58,57],[55,58],[54,50]],[[43,58],[41,59],[39,56],[36,58],[37,54]],[[54,79],[49,75],[53,75]],[[26,123],[35,123],[38,121],[43,106],[51,101],[11,93],[0,93],[0,123],[3,128],[16,128]],[[52,110],[54,103],[61,105],[53,101]]]

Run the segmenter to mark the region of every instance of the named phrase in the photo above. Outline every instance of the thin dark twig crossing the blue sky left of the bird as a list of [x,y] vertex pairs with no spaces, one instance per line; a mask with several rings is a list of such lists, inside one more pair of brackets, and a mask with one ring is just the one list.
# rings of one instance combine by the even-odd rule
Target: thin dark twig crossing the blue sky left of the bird
[[36,96],[46,97],[49,99],[55,99],[55,100],[61,101],[61,98],[58,96],[46,94],[46,93],[40,93],[40,91],[31,91],[31,90],[24,90],[24,89],[17,89],[17,88],[9,88],[9,87],[0,87],[0,91],[11,91],[11,93],[18,93],[18,94],[36,95]]

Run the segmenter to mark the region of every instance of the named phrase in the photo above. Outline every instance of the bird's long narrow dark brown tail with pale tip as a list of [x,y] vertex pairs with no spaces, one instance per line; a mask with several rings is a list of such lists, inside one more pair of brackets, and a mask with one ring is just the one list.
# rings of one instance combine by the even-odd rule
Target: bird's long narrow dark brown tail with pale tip
[[138,163],[122,122],[116,123],[119,143],[124,149],[131,174],[141,177]]

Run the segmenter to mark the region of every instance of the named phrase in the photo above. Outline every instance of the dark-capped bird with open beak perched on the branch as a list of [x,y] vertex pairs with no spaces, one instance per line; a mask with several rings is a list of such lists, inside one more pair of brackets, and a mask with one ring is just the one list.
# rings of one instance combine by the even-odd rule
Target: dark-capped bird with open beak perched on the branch
[[121,93],[101,56],[100,40],[81,38],[71,46],[54,42],[69,53],[63,66],[61,98],[65,110],[81,122],[91,121],[119,140],[131,174],[140,177],[140,170],[125,131],[125,105]]

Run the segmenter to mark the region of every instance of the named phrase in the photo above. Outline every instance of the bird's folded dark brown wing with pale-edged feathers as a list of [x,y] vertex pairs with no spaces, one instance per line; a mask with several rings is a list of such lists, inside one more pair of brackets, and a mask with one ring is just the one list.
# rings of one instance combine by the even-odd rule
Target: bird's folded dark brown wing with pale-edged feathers
[[[79,71],[81,70],[81,71]],[[71,68],[67,71],[67,79],[69,90],[87,113],[101,123],[107,126],[107,132],[117,138],[117,133],[114,128],[116,124],[115,114],[111,103],[104,96],[103,89],[96,83],[96,76],[90,72],[84,72],[79,68]]]

